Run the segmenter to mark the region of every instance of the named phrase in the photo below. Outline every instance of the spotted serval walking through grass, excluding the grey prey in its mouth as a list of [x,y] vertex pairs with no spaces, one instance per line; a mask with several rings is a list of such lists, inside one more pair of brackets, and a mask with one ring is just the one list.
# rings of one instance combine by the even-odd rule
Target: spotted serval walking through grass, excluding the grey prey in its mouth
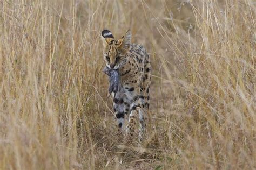
[[113,105],[118,133],[123,133],[124,118],[129,117],[126,134],[133,136],[139,119],[139,139],[142,140],[150,102],[150,56],[142,45],[131,44],[130,30],[118,40],[109,30],[103,30],[102,37],[106,66],[119,69],[121,77],[122,89],[116,93]]

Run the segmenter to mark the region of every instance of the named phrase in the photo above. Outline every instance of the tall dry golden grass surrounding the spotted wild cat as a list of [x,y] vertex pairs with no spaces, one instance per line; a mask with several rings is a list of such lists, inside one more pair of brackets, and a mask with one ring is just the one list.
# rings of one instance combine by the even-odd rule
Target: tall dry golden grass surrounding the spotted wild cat
[[[256,168],[255,3],[184,2],[1,1],[0,169]],[[142,148],[116,142],[104,28],[151,53]]]

